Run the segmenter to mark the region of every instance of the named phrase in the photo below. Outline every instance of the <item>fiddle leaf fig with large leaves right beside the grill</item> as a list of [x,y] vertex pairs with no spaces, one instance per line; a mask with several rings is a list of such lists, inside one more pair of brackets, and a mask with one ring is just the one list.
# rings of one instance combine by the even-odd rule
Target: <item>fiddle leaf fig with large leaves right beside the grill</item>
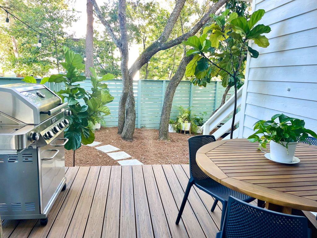
[[63,47],[63,50],[65,62],[62,62],[61,65],[65,69],[65,73],[51,75],[49,82],[64,83],[65,85],[65,89],[56,93],[63,101],[68,102],[72,111],[72,115],[67,117],[70,125],[65,129],[65,138],[68,138],[65,149],[73,150],[74,166],[75,150],[81,147],[81,144],[87,145],[94,141],[94,132],[88,126],[89,122],[95,124],[100,122],[100,117],[110,114],[106,104],[113,101],[113,96],[110,95],[107,84],[102,81],[113,79],[114,76],[107,74],[100,78],[95,69],[90,67],[92,92],[86,91],[78,83],[86,79],[82,57],[68,47]]

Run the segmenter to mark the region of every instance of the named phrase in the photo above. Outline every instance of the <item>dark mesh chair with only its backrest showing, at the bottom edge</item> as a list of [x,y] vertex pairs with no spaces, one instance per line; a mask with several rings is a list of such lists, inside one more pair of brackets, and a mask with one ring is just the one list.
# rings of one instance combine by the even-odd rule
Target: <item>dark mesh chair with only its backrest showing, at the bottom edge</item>
[[309,238],[307,218],[259,208],[229,198],[223,229],[216,238]]

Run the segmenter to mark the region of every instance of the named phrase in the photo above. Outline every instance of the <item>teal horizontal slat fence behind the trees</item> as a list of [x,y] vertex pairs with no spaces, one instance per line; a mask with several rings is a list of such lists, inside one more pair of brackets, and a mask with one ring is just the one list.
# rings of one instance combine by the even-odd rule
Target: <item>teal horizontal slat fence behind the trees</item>
[[[23,78],[0,77],[0,84],[20,83]],[[38,82],[41,79],[37,79]],[[119,99],[122,92],[122,80],[113,79],[105,81],[108,84],[109,91],[114,97],[113,102],[107,104],[111,115],[106,116],[106,126],[112,127],[118,125]],[[162,106],[164,102],[165,89],[169,80],[139,80],[133,81],[133,91],[135,99],[136,120],[135,126],[158,129],[161,119]],[[90,79],[79,82],[82,88],[91,91]],[[45,83],[51,90],[58,91],[65,88],[62,83]],[[207,112],[205,120],[220,105],[224,88],[221,82],[212,81],[207,87],[194,86],[190,81],[181,81],[176,89],[172,102],[171,118],[178,115],[174,106],[191,107],[194,114]],[[230,89],[233,94],[233,89]],[[229,120],[226,118],[223,122]]]

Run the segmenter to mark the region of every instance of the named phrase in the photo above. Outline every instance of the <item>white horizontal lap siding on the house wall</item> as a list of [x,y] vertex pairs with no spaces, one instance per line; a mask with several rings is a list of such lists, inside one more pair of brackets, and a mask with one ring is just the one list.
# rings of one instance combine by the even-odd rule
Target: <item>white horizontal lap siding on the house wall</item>
[[304,119],[317,131],[317,0],[254,0],[253,10],[266,13],[270,45],[250,46],[247,58],[239,138],[253,133],[253,124],[277,113]]

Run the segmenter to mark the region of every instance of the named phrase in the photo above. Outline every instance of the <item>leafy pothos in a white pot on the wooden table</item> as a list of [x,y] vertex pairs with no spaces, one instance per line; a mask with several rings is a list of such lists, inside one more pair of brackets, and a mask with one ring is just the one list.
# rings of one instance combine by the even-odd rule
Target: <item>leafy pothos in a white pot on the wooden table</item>
[[[275,122],[278,119],[279,122]],[[270,159],[276,162],[290,163],[293,161],[298,141],[307,142],[307,137],[317,138],[314,131],[306,129],[304,120],[276,114],[271,120],[260,120],[254,124],[254,134],[248,137],[250,142],[258,142],[259,149],[266,149],[270,144]]]

